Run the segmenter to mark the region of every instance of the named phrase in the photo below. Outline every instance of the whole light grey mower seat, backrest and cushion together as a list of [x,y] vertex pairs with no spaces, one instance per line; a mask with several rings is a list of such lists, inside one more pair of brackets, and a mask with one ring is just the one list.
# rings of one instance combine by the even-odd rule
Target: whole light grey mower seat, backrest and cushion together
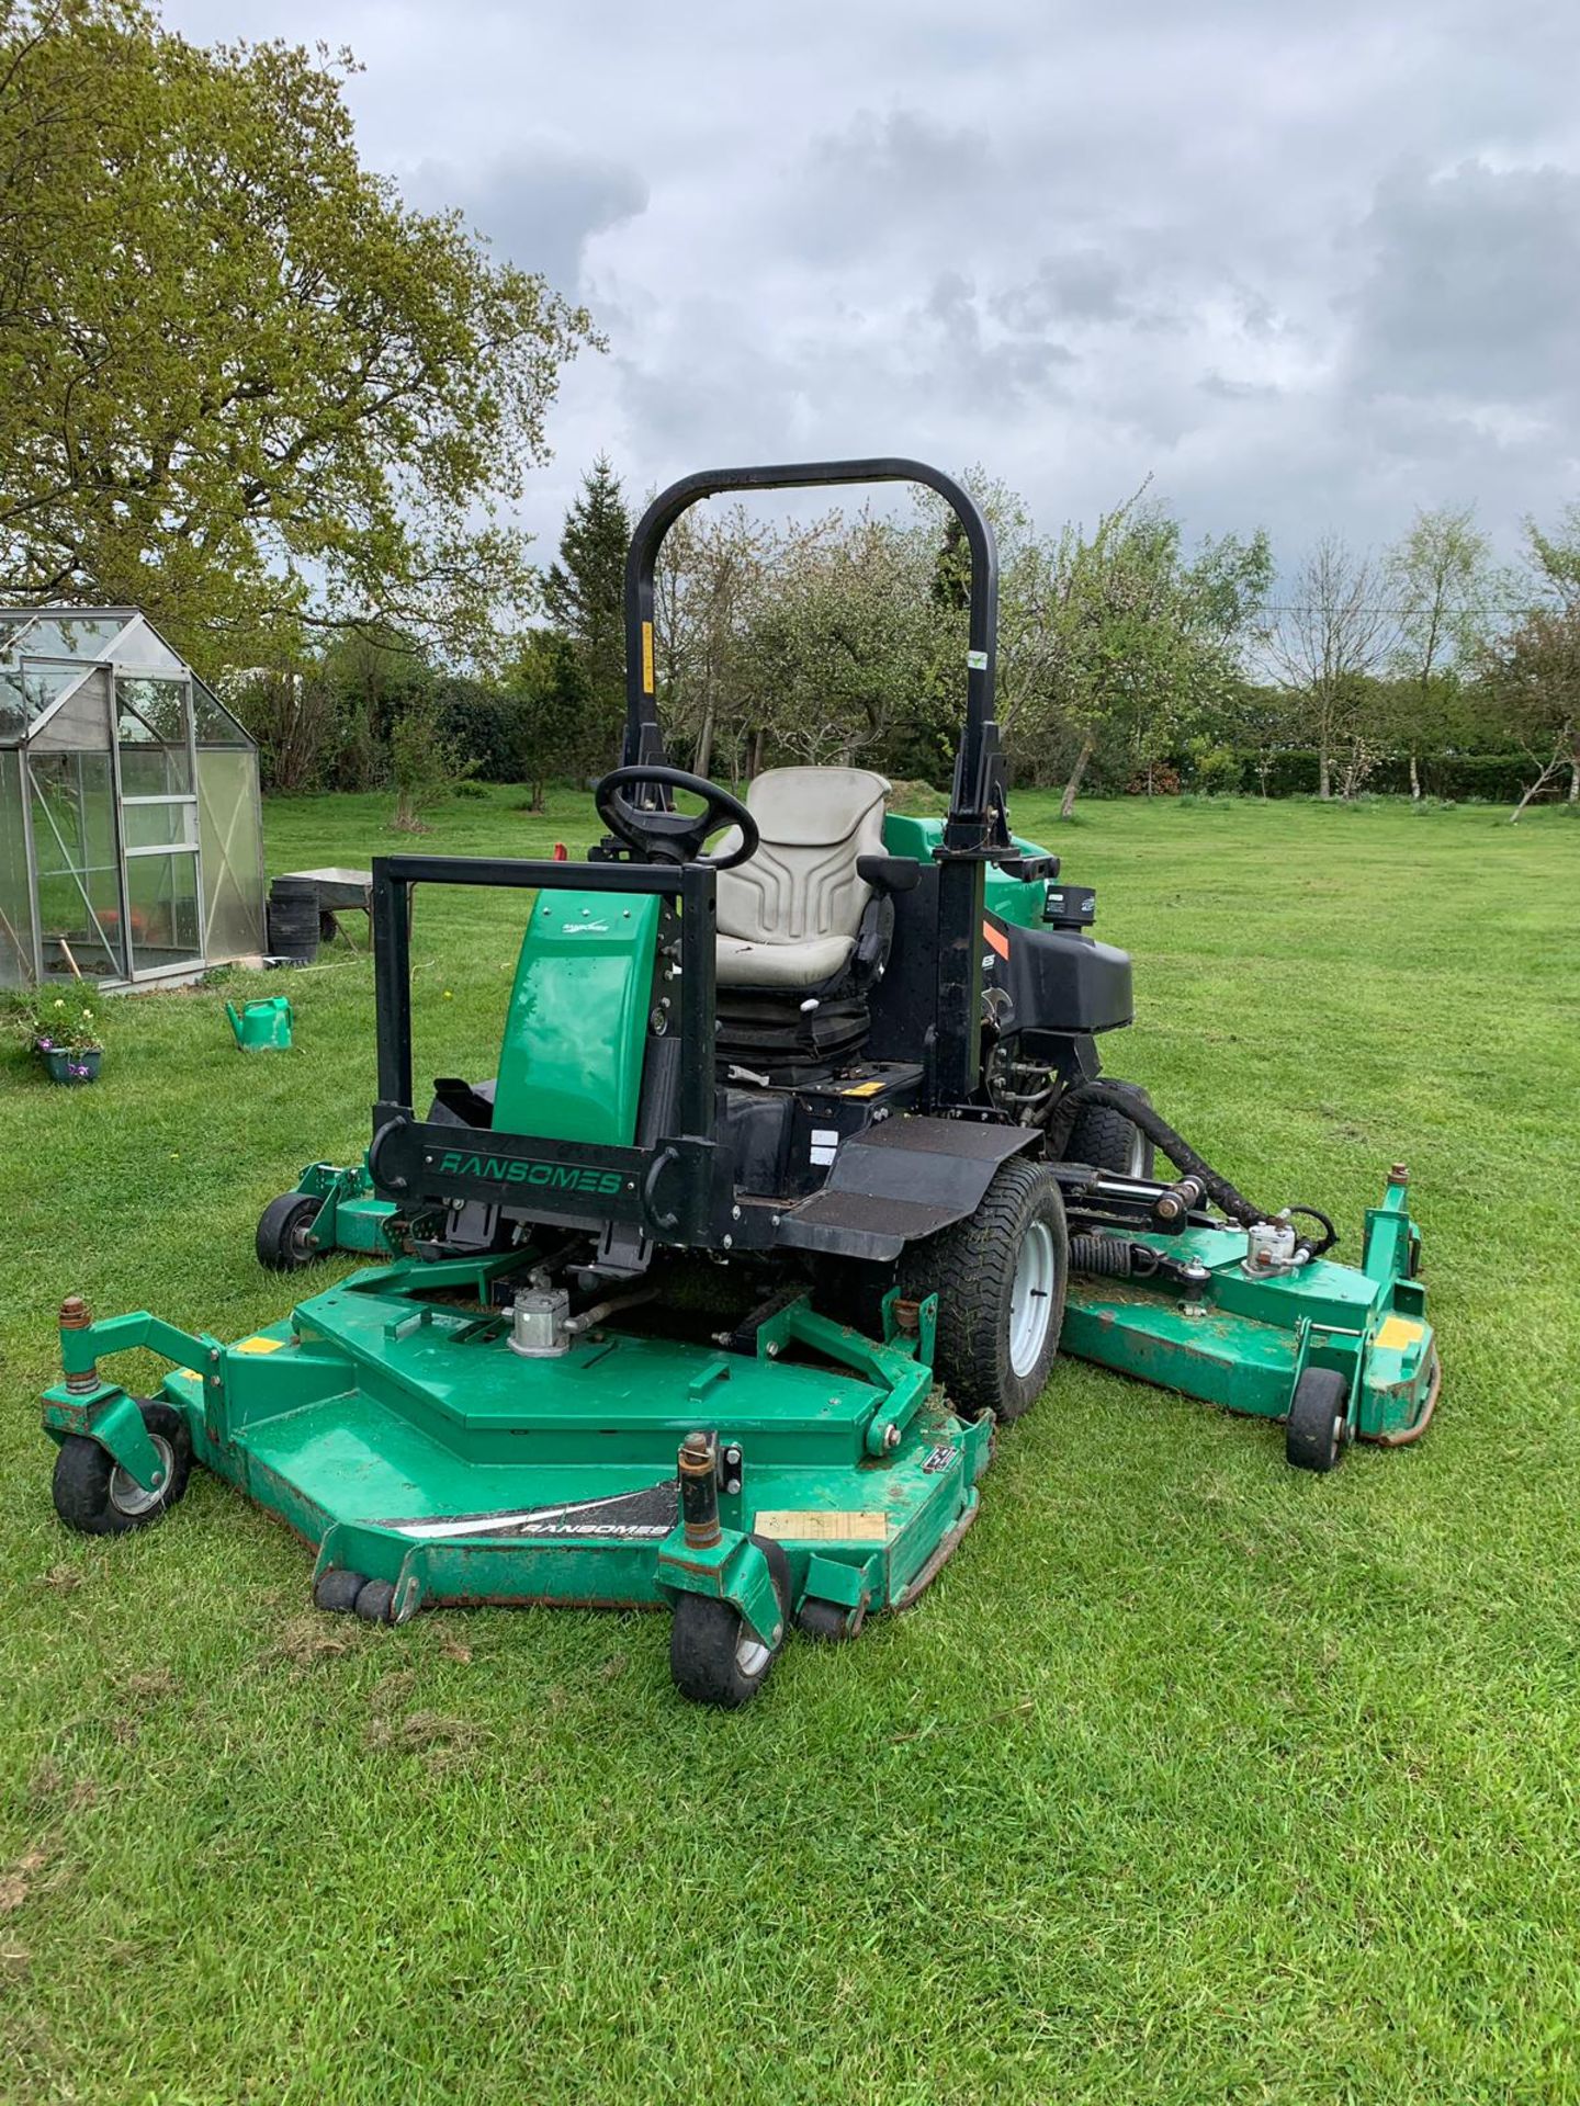
[[[868,769],[769,769],[746,792],[763,840],[718,872],[718,986],[815,988],[849,965],[883,855],[889,783]],[[735,828],[718,845],[727,853]]]

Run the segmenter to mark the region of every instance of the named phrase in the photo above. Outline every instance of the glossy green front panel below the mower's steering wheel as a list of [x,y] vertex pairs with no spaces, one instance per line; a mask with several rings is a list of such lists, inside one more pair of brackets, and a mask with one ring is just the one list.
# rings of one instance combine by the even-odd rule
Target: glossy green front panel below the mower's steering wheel
[[657,927],[653,893],[537,895],[499,1047],[501,1133],[630,1148]]

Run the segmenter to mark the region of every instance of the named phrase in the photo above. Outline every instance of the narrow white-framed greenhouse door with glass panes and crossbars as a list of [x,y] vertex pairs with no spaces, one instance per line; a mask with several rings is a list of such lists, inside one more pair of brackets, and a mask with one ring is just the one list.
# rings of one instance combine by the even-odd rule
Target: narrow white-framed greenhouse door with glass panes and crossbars
[[202,874],[185,678],[116,680],[126,969],[133,979],[202,969]]

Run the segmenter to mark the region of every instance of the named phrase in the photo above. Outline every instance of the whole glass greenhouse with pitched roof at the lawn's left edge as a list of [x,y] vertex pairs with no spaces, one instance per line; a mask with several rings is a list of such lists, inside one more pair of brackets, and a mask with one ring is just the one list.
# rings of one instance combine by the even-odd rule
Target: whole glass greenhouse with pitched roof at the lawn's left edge
[[263,950],[257,748],[133,607],[0,611],[0,988]]

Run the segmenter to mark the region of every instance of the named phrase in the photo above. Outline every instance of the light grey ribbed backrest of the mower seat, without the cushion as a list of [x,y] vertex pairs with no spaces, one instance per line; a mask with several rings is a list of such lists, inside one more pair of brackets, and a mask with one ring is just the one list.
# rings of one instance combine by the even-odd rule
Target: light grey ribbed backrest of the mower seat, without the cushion
[[[862,925],[872,887],[857,855],[883,855],[889,783],[868,769],[769,769],[746,792],[763,830],[750,861],[718,872],[718,929],[748,943],[805,943]],[[718,845],[739,840],[731,828]]]

